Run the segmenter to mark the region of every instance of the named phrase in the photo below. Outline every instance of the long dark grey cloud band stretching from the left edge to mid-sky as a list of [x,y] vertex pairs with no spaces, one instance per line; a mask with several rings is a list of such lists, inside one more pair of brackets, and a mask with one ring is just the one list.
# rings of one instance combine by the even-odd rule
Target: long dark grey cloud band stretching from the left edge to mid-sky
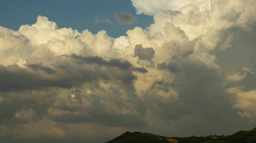
[[[142,67],[134,68],[128,61],[121,62],[118,59],[111,59],[110,61],[107,61],[103,60],[102,57],[82,57],[75,54],[72,54],[71,57],[78,60],[78,65],[86,63],[97,64],[98,66],[108,66],[110,68],[117,67],[120,70],[110,69],[115,70],[115,72],[119,72],[119,74],[112,75],[112,77],[121,79],[124,83],[131,83],[132,80],[137,79],[137,77],[131,73],[132,70],[141,73],[147,72],[147,70]],[[56,70],[53,70],[48,66],[43,66],[43,64],[27,64],[26,66],[36,72],[43,72],[34,73],[17,65],[10,65],[7,67],[0,66],[0,77],[2,79],[0,81],[0,91],[10,92],[15,90],[40,89],[44,87],[71,88],[72,86],[80,85],[83,82],[92,82],[97,78],[109,79],[107,74],[103,73],[103,71],[93,71],[93,69],[74,69],[74,65],[56,65]],[[58,72],[64,72],[67,75],[60,75]],[[52,77],[48,78],[47,74],[52,74]]]

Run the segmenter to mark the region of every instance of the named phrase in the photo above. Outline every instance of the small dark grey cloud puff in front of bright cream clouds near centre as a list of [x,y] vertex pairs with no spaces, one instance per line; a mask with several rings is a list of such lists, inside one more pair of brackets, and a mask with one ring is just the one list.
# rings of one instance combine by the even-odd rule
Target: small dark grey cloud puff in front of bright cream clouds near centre
[[142,45],[136,45],[134,48],[134,57],[138,57],[140,60],[152,60],[155,55],[155,50],[150,48],[143,48]]

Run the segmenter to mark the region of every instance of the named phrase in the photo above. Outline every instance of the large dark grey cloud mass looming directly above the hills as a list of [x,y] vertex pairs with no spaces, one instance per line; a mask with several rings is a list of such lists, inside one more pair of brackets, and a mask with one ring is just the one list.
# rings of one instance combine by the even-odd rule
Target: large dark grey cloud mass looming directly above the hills
[[[232,130],[243,128],[244,124],[234,126],[241,118],[234,108],[230,108],[232,107],[230,98],[234,95],[225,91],[225,87],[222,85],[225,82],[225,77],[207,69],[204,64],[200,65],[200,61],[193,63],[189,59],[179,60],[183,70],[176,74],[174,82],[165,85],[166,83],[160,81],[154,85],[158,88],[165,86],[175,88],[179,92],[179,99],[170,97],[163,100],[159,96],[148,93],[150,98],[146,98],[146,102],[151,108],[150,110],[155,111],[153,116],[177,121],[177,128],[188,131],[185,133],[186,136],[189,136],[191,132],[195,136],[207,136],[207,134],[213,133],[229,134],[228,131],[219,131],[219,125],[232,128]],[[166,63],[158,64],[158,68],[169,70]],[[228,122],[229,120],[230,122]],[[190,121],[193,122],[192,125],[189,124]],[[209,123],[211,130],[192,129],[204,128],[201,123]],[[182,136],[184,133],[176,130],[171,131],[171,134]]]

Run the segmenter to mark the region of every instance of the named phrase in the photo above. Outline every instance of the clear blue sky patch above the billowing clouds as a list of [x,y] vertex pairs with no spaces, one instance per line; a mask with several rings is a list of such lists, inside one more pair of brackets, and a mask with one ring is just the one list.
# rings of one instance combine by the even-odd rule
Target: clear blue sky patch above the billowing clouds
[[[0,25],[13,30],[35,23],[38,15],[56,22],[58,28],[72,28],[79,32],[89,29],[94,34],[106,30],[114,38],[127,35],[126,31],[135,26],[146,29],[153,23],[153,16],[137,15],[130,0],[1,0],[0,3]],[[135,16],[137,23],[118,25],[114,14],[121,12]],[[108,18],[113,24],[94,23],[97,16]]]

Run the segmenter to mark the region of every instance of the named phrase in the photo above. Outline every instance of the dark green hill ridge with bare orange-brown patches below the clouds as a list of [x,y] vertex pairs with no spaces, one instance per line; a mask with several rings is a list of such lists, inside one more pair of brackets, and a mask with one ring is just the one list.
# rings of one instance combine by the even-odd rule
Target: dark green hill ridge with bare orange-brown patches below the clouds
[[256,128],[229,136],[164,137],[150,133],[125,132],[106,143],[256,143]]

